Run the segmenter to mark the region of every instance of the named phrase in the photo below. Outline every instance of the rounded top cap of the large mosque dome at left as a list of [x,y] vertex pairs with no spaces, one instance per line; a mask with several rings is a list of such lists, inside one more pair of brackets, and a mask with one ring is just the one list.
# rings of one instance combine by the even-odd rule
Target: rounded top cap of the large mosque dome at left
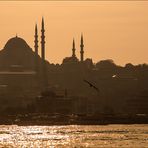
[[7,41],[4,49],[14,49],[14,50],[21,50],[21,49],[28,49],[30,48],[26,41],[20,37],[14,37]]

